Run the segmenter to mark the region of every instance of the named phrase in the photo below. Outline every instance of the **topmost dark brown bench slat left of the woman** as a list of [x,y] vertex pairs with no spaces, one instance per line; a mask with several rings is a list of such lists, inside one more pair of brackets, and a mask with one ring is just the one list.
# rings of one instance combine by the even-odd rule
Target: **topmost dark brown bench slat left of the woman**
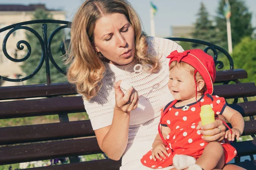
[[0,100],[77,94],[70,83],[17,85],[0,88]]

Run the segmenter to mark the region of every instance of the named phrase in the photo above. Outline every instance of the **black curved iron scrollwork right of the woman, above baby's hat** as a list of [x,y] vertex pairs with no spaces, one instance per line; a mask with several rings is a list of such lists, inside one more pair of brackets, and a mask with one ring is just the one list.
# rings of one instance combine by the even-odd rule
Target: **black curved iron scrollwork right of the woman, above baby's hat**
[[224,49],[221,48],[218,45],[214,45],[210,42],[206,42],[206,41],[202,41],[202,40],[195,40],[195,39],[189,39],[189,38],[167,38],[169,40],[173,40],[173,41],[183,41],[183,42],[192,42],[192,43],[197,43],[197,44],[202,44],[202,45],[207,45],[208,47],[204,49],[204,52],[207,52],[208,50],[212,50],[213,51],[213,59],[215,62],[215,65],[218,69],[222,69],[224,67],[223,62],[218,61],[218,51],[221,51],[228,59],[229,63],[230,63],[230,70],[234,69],[234,63],[233,63],[233,59],[230,56],[230,54]]

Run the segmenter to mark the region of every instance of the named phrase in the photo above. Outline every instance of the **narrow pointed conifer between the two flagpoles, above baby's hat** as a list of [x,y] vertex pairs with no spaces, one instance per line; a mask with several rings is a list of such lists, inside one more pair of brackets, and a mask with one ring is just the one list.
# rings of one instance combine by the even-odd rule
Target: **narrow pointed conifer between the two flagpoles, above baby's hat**
[[[195,22],[195,31],[192,32],[192,38],[211,42],[213,44],[218,42],[218,40],[216,40],[215,26],[213,26],[212,20],[209,20],[209,13],[205,8],[204,3],[201,3],[197,16],[198,18]],[[205,48],[204,45],[195,43],[192,46],[193,48]]]

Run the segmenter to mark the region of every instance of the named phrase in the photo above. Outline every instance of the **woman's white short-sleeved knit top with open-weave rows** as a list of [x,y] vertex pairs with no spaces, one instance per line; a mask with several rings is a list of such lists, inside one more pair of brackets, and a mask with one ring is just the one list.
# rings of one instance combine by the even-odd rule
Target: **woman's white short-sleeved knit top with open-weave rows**
[[[163,38],[150,38],[160,55],[161,68],[152,74],[141,72],[131,79],[133,66],[105,63],[106,74],[99,93],[90,101],[84,100],[84,107],[89,115],[93,130],[111,125],[115,106],[114,83],[120,79],[130,81],[139,94],[139,107],[131,111],[128,143],[153,140],[157,135],[160,121],[160,109],[173,100],[167,83],[169,81],[169,59],[172,51],[183,51],[180,45]],[[149,41],[150,42],[150,41]]]

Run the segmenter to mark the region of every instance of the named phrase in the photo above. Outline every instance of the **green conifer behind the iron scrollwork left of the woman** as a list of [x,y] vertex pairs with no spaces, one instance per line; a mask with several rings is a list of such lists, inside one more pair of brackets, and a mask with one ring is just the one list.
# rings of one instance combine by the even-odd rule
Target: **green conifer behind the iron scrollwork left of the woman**
[[[33,20],[52,20],[52,15],[44,11],[43,9],[38,9],[35,11],[35,14],[33,16]],[[60,25],[59,24],[47,24],[47,39],[49,38],[50,34],[58,28]],[[37,31],[41,37],[43,37],[42,33],[42,24],[32,24],[30,26],[32,29]],[[37,68],[40,59],[41,59],[41,44],[38,40],[38,38],[30,31],[26,32],[26,39],[29,42],[31,46],[31,55],[30,57],[23,63],[21,66],[22,70],[26,75],[31,74],[35,68]],[[52,51],[52,56],[55,60],[55,62],[58,64],[59,67],[62,69],[64,68],[64,65],[62,65],[61,62],[61,43],[64,40],[64,31],[59,31],[57,34],[55,34],[54,38],[52,39],[51,43],[51,51]],[[49,61],[50,62],[50,61]],[[67,80],[64,78],[64,75],[61,74],[55,67],[52,65],[50,62],[50,74],[51,74],[51,82],[66,82]],[[41,84],[41,83],[46,83],[47,78],[46,78],[46,67],[45,67],[45,61],[44,65],[40,69],[40,71],[31,79],[27,81],[27,84]]]

